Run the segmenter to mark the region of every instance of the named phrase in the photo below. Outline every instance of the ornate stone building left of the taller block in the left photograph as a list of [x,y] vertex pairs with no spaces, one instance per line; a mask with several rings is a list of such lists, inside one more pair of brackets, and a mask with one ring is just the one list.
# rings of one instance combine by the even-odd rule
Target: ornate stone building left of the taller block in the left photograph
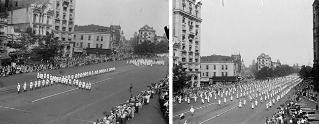
[[[48,2],[11,9],[8,15],[8,34],[19,35],[21,31],[25,31],[28,27],[31,27],[39,35],[50,33],[52,31],[53,10],[52,4]],[[10,40],[18,41],[18,39]]]

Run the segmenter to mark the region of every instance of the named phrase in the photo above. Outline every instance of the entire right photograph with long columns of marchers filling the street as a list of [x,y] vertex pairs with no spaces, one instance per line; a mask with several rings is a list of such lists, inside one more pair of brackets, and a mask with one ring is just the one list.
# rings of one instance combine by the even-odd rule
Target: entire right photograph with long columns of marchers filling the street
[[173,124],[319,124],[319,0],[172,0]]

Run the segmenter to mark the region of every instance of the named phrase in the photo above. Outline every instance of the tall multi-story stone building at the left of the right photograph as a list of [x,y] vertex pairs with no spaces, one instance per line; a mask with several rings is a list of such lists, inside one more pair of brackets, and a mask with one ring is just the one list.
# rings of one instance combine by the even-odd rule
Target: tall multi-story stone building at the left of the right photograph
[[201,2],[173,0],[173,63],[185,66],[192,86],[200,86]]

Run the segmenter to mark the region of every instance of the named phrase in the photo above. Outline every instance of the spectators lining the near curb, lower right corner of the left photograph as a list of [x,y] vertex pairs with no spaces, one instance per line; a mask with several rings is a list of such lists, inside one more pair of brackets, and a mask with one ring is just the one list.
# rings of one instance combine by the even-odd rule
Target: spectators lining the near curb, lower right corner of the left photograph
[[[166,76],[158,83],[152,84],[146,90],[133,96],[131,94],[128,101],[121,103],[119,106],[112,107],[111,111],[104,112],[105,117],[97,119],[94,124],[126,124],[129,120],[133,120],[135,114],[142,111],[144,105],[148,105],[151,98],[155,94],[160,96],[160,108],[162,111],[168,113],[168,77]],[[144,111],[144,110],[143,110]],[[167,114],[168,119],[168,114]]]

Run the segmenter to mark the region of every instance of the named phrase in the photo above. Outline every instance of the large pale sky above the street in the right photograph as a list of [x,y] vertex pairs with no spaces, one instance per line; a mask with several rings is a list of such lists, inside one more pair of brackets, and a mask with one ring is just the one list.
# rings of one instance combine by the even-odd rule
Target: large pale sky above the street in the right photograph
[[201,56],[265,53],[282,64],[313,62],[314,0],[202,0]]

